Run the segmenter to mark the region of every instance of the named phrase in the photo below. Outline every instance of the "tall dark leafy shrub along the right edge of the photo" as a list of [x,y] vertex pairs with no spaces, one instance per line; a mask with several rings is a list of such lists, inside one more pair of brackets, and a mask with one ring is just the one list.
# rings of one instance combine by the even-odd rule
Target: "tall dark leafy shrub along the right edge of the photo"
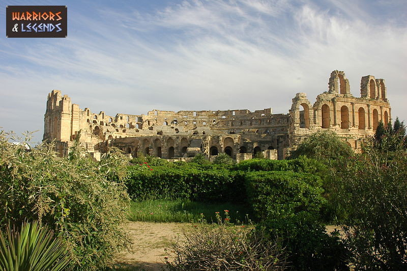
[[381,148],[366,140],[338,169],[336,201],[348,212],[340,223],[355,269],[407,269],[407,151],[398,136],[383,137]]

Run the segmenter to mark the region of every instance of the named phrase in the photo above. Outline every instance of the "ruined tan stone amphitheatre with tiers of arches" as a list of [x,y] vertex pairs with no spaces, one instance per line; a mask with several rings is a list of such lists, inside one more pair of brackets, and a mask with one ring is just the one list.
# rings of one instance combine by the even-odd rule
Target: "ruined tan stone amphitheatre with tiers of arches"
[[318,130],[335,131],[357,150],[366,136],[374,134],[379,121],[391,119],[384,79],[363,76],[361,97],[354,97],[343,71],[331,73],[328,91],[311,105],[305,93],[297,93],[288,114],[264,110],[160,111],[147,115],[92,113],[79,109],[68,95],[48,94],[44,140],[55,141],[57,153],[66,156],[81,131],[80,143],[95,159],[111,147],[131,154],[166,159],[185,159],[196,153],[213,158],[227,153],[239,160],[263,152],[270,159],[283,159]]

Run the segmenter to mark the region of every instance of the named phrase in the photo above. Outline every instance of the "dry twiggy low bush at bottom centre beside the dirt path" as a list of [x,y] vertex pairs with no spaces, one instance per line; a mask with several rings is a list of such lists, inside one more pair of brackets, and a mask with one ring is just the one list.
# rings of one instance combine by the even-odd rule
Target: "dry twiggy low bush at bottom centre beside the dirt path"
[[[175,253],[170,270],[284,270],[285,253],[264,231],[221,223],[194,225],[169,248]],[[172,255],[171,255],[172,256]]]

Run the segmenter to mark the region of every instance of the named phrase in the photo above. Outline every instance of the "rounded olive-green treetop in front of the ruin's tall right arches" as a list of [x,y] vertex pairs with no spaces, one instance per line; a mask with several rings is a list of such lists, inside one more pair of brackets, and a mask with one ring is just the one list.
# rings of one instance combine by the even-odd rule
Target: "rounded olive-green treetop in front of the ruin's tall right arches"
[[292,151],[289,159],[305,155],[318,161],[329,162],[341,157],[350,157],[354,151],[331,130],[317,131],[305,139],[298,148]]

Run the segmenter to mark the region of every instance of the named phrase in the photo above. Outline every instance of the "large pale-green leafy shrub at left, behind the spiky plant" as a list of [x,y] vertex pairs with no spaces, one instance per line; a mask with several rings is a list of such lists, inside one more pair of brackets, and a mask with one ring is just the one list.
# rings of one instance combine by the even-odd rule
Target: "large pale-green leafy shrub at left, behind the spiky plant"
[[93,162],[78,142],[65,158],[56,157],[52,144],[27,152],[8,143],[11,137],[0,133],[0,225],[38,220],[66,241],[77,269],[106,266],[128,245],[120,225],[129,204],[126,186],[111,180],[124,177],[112,168],[124,159],[111,152]]

